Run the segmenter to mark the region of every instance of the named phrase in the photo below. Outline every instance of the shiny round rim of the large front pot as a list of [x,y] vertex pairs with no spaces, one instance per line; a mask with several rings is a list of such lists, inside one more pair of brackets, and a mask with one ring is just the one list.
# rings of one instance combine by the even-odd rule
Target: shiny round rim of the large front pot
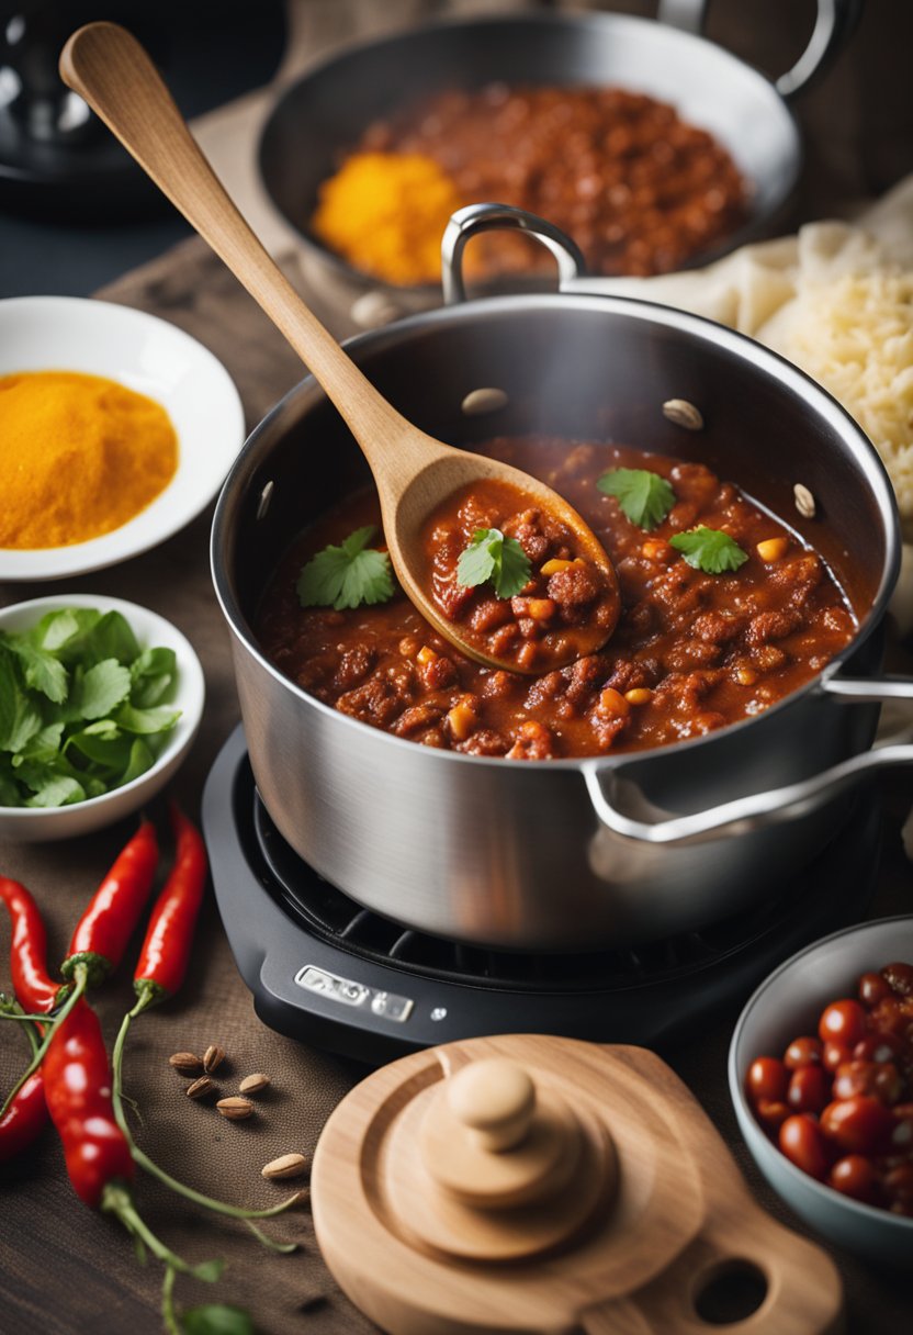
[[[550,770],[558,769],[581,772],[583,768],[597,768],[607,772],[610,769],[619,769],[622,766],[643,762],[653,757],[662,757],[670,753],[683,756],[686,752],[707,745],[715,738],[731,737],[737,730],[745,730],[754,725],[764,724],[766,718],[776,716],[784,709],[793,708],[809,696],[824,694],[824,692],[821,692],[821,682],[837,676],[846,659],[865,643],[865,641],[880,625],[900,573],[901,535],[894,490],[876,447],[862,427],[828,390],[820,386],[817,380],[813,380],[810,375],[806,375],[805,371],[801,371],[797,366],[781,356],[778,352],[774,352],[772,348],[768,348],[764,344],[757,343],[754,339],[747,338],[745,334],[738,334],[735,330],[731,330],[725,324],[719,324],[715,320],[706,319],[702,315],[694,315],[690,311],[681,311],[671,306],[662,306],[658,302],[645,302],[641,298],[633,296],[587,295],[577,292],[510,295],[469,300],[458,306],[446,306],[432,311],[424,311],[418,315],[411,315],[406,319],[396,320],[392,324],[387,324],[380,330],[370,330],[364,334],[356,334],[352,338],[346,339],[342,346],[355,354],[364,347],[383,350],[384,347],[395,346],[400,342],[408,343],[410,336],[414,332],[424,331],[428,324],[475,323],[478,319],[485,320],[489,314],[509,315],[518,311],[541,311],[554,308],[555,304],[561,306],[563,310],[585,310],[597,312],[611,311],[622,318],[633,316],[634,319],[645,319],[647,322],[679,330],[697,339],[725,348],[738,358],[747,359],[762,371],[772,374],[774,379],[780,380],[785,387],[792,388],[800,398],[802,398],[806,406],[817,411],[820,417],[824,417],[830,429],[844,437],[850,446],[852,453],[865,469],[874,493],[874,499],[878,505],[878,510],[881,511],[886,553],[878,589],[872,599],[870,607],[860,622],[853,639],[838,654],[836,654],[820,673],[805,682],[805,685],[790,692],[788,696],[784,696],[762,713],[738,720],[734,724],[727,724],[711,733],[705,733],[699,737],[682,738],[681,741],[669,742],[665,746],[650,746],[642,750],[618,752],[614,756],[611,753],[605,756],[567,756],[541,762],[530,762],[529,760],[509,760],[506,756],[467,756],[463,752],[439,750],[432,746],[420,746],[408,738],[396,737],[394,733],[372,728],[370,724],[364,724],[359,718],[352,718],[348,714],[340,713],[331,705],[326,705],[323,701],[319,701],[315,696],[310,696],[296,682],[294,682],[291,677],[282,673],[260,651],[252,627],[242,613],[231,589],[231,579],[227,574],[226,562],[223,559],[223,549],[226,542],[224,529],[227,526],[228,511],[232,509],[234,493],[242,489],[243,475],[246,470],[252,467],[255,455],[260,450],[262,438],[272,431],[275,423],[286,411],[288,411],[290,406],[296,403],[303,396],[314,396],[315,402],[319,399],[326,400],[323,390],[316,383],[314,376],[308,374],[299,380],[298,384],[288,390],[288,392],[270,409],[266,417],[258,422],[238,454],[231,471],[223,483],[222,491],[219,493],[210,537],[210,570],[215,594],[228,627],[238,642],[255,657],[259,666],[266,669],[280,685],[299,696],[304,704],[320,710],[334,720],[338,720],[343,725],[359,729],[359,733],[362,733],[363,729],[376,733],[384,740],[384,744],[400,748],[406,746],[410,752],[423,754],[426,757],[434,757],[434,762],[465,765],[494,764],[498,766],[510,766],[511,769],[521,770],[523,773],[530,770],[531,764],[537,770],[541,766],[547,766]],[[354,359],[356,362],[359,360],[358,356]]]

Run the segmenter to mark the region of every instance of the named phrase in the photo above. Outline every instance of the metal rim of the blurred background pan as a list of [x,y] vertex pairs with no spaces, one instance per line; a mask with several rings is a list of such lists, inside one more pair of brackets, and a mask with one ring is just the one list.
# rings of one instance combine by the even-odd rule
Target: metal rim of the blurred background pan
[[[467,31],[470,28],[494,28],[494,27],[511,27],[523,25],[533,28],[539,27],[553,27],[553,28],[581,28],[586,29],[630,29],[633,32],[643,32],[645,29],[659,31],[663,35],[669,35],[671,40],[685,43],[693,49],[695,47],[711,48],[719,59],[727,60],[733,67],[739,69],[742,77],[746,81],[753,83],[758,88],[764,88],[765,93],[769,93],[774,103],[780,105],[785,113],[785,125],[789,127],[792,136],[790,148],[790,170],[784,172],[784,176],[778,186],[778,194],[772,203],[761,214],[753,214],[739,228],[725,236],[717,246],[709,250],[702,250],[693,255],[683,266],[682,270],[695,268],[703,264],[711,263],[714,259],[719,259],[723,255],[729,255],[733,250],[745,244],[749,240],[757,239],[758,234],[766,227],[773,218],[777,216],[778,210],[782,208],[785,202],[789,199],[790,194],[796,188],[804,163],[804,147],[802,136],[798,129],[798,123],[793,111],[780,92],[777,85],[772,79],[769,79],[759,69],[755,69],[741,56],[734,52],[727,51],[726,47],[721,47],[719,43],[710,40],[709,37],[701,36],[699,33],[687,32],[683,28],[678,28],[671,23],[662,23],[658,17],[649,17],[646,15],[627,15],[627,13],[611,13],[599,11],[537,11],[530,9],[521,13],[502,13],[502,15],[478,15],[474,17],[466,17],[461,15],[442,16],[439,19],[430,20],[427,23],[410,25],[404,28],[398,28],[394,32],[384,33],[383,36],[375,37],[358,37],[347,41],[344,45],[336,47],[323,59],[318,59],[312,65],[302,73],[298,79],[286,88],[286,91],[276,99],[270,115],[263,121],[260,127],[260,134],[256,146],[256,170],[260,182],[270,198],[272,207],[282,215],[288,227],[292,228],[295,235],[299,238],[300,243],[304,246],[306,251],[315,259],[327,264],[339,278],[351,282],[368,283],[371,288],[378,291],[384,291],[390,294],[398,294],[403,300],[428,300],[428,298],[439,294],[439,283],[418,283],[418,284],[404,284],[404,283],[391,283],[388,279],[378,278],[370,274],[367,270],[356,268],[350,264],[348,260],[343,259],[335,251],[324,246],[306,223],[296,223],[291,219],[279,200],[275,198],[272,187],[270,184],[270,178],[264,171],[264,156],[266,156],[266,142],[271,132],[272,125],[282,117],[287,104],[299,93],[299,89],[312,84],[318,79],[332,73],[335,65],[344,65],[350,59],[358,57],[368,51],[380,52],[384,47],[395,45],[403,40],[420,39],[427,33],[435,33],[440,31],[459,28]],[[570,87],[570,85],[569,85]],[[739,168],[741,170],[741,168]],[[602,276],[602,275],[594,275]],[[521,275],[522,278],[522,275]],[[497,280],[495,280],[497,282]],[[503,282],[503,279],[502,279]]]

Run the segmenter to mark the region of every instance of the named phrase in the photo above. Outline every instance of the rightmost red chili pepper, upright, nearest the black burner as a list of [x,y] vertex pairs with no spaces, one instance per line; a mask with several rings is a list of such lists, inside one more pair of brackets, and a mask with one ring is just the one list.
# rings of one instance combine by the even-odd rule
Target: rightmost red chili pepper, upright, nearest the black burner
[[155,901],[133,973],[133,989],[139,997],[148,999],[147,1005],[174,996],[184,981],[208,874],[200,832],[174,802],[170,812],[176,840],[175,861]]

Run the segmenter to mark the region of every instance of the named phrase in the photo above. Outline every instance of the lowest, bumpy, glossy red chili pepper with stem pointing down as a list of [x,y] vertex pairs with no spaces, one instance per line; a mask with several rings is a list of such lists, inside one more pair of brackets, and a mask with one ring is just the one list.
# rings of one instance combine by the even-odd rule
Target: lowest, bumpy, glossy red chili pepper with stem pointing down
[[80,1200],[95,1210],[108,1184],[132,1181],[133,1160],[115,1120],[101,1025],[84,997],[57,1023],[43,1069],[69,1180]]

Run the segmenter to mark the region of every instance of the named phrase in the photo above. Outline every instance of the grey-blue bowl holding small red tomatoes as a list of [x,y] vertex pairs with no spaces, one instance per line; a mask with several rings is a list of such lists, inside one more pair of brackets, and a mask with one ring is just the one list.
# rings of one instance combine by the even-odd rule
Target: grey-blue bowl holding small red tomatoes
[[755,1057],[780,1057],[804,1033],[817,1033],[829,1001],[854,996],[861,973],[896,960],[913,961],[913,916],[845,928],[800,951],[750,997],[729,1048],[729,1092],[754,1161],[797,1215],[824,1238],[873,1266],[909,1268],[913,1219],[844,1196],[804,1173],[768,1139],[745,1097]]

